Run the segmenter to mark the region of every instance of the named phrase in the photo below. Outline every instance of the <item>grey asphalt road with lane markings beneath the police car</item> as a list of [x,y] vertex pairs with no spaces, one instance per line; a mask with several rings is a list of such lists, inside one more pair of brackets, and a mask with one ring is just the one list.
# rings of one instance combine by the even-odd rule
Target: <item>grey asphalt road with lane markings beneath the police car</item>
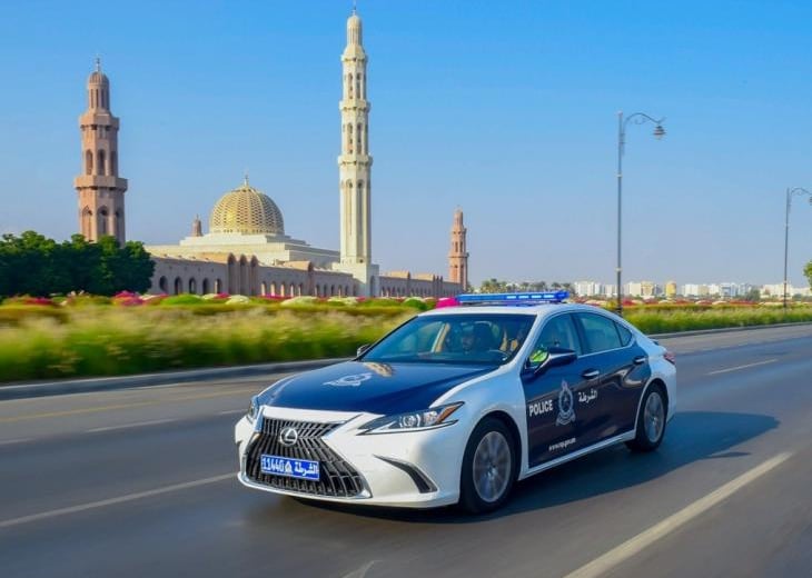
[[239,486],[234,422],[278,376],[0,402],[0,575],[812,576],[812,327],[663,345],[657,452],[594,454],[482,518]]

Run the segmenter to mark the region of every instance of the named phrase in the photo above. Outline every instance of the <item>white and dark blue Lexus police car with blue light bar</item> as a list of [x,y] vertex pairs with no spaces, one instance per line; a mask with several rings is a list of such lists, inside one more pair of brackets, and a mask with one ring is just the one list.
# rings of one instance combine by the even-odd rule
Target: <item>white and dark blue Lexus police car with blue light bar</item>
[[285,377],[235,429],[239,480],[319,500],[471,512],[517,480],[660,446],[674,357],[565,292],[464,295],[343,363]]

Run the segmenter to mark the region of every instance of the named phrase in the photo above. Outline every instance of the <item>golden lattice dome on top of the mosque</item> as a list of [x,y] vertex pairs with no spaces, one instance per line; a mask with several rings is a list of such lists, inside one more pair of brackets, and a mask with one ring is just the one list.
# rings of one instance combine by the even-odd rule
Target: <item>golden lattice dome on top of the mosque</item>
[[248,179],[215,205],[209,232],[240,235],[285,235],[285,221],[276,203],[248,185]]

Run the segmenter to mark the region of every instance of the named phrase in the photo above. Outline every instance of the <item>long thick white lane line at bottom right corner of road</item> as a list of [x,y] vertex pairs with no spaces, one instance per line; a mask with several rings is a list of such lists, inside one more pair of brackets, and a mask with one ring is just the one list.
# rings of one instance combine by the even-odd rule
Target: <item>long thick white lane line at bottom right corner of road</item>
[[654,544],[666,535],[676,530],[681,526],[684,526],[699,515],[710,510],[719,502],[727,499],[733,494],[742,489],[747,484],[756,480],[764,476],[770,470],[776,468],[788,459],[792,457],[792,452],[779,454],[774,458],[771,458],[760,466],[742,474],[737,478],[729,481],[724,486],[715,489],[704,498],[700,498],[693,504],[686,506],[676,514],[669,516],[660,524],[652,526],[651,528],[643,530],[641,534],[626,540],[616,548],[611,549],[603,556],[595,558],[586,566],[582,566],[572,574],[566,575],[565,578],[594,578],[606,574],[618,564],[627,560],[628,558],[640,554],[642,550]]

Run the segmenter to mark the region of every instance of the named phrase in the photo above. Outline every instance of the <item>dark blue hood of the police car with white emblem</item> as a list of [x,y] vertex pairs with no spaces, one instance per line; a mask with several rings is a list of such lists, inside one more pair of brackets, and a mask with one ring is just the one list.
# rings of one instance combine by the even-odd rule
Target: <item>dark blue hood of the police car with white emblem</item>
[[284,378],[259,396],[265,406],[393,415],[426,409],[493,365],[346,361]]

